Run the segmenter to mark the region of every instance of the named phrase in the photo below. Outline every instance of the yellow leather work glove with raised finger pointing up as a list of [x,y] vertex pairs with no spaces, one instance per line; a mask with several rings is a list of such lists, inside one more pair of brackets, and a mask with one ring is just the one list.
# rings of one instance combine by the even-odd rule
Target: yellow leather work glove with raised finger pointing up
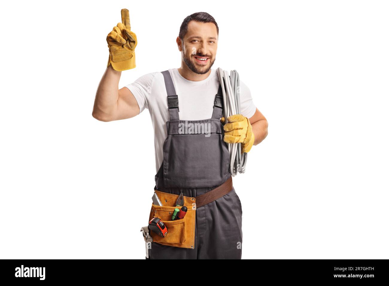
[[122,23],[117,23],[107,35],[109,47],[108,64],[114,70],[121,72],[135,68],[135,47],[138,44],[137,35],[131,32],[130,14],[127,9],[121,9]]

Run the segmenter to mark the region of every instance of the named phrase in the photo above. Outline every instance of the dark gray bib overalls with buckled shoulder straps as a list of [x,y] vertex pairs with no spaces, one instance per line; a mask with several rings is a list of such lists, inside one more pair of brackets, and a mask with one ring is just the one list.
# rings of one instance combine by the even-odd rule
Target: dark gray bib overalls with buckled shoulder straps
[[[212,117],[179,119],[178,95],[168,70],[162,72],[168,97],[170,121],[163,144],[163,162],[155,175],[155,189],[186,197],[197,197],[223,184],[230,176],[230,153],[223,141],[223,97],[221,85]],[[204,133],[193,133],[179,123],[199,123]],[[181,126],[181,129],[180,129]],[[193,125],[192,125],[193,126]],[[201,128],[198,128],[201,129]],[[199,131],[199,130],[197,130]],[[201,131],[201,130],[200,130]],[[210,133],[209,133],[210,131]],[[233,188],[223,197],[196,209],[194,249],[152,243],[150,259],[240,259],[242,257],[242,205]]]

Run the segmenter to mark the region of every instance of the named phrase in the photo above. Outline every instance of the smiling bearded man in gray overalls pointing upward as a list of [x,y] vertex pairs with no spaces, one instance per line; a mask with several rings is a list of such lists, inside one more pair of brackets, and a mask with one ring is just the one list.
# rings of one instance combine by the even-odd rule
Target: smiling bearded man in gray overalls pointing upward
[[[216,70],[211,69],[216,60],[219,27],[205,12],[187,16],[180,26],[176,40],[180,68],[143,75],[118,90],[121,71],[135,67],[137,45],[128,10],[121,12],[122,23],[107,36],[108,67],[98,87],[92,115],[100,121],[112,121],[149,109],[157,172],[154,189],[167,204],[153,204],[150,218],[163,216],[160,219],[168,229],[166,238],[151,231],[154,242],[149,256],[240,259],[242,206],[232,187],[226,143],[242,143],[242,153],[250,151],[267,135],[266,118],[253,104],[249,88],[242,81],[241,114],[222,118],[223,104],[216,95],[221,95],[221,83]],[[210,134],[180,133],[179,124],[188,122],[211,126]],[[186,216],[193,217],[193,230],[187,219],[181,230],[187,232],[186,239],[175,241],[180,233],[170,216],[181,193],[185,200],[195,202],[179,205],[188,207],[190,215]],[[168,202],[170,197],[174,202]]]

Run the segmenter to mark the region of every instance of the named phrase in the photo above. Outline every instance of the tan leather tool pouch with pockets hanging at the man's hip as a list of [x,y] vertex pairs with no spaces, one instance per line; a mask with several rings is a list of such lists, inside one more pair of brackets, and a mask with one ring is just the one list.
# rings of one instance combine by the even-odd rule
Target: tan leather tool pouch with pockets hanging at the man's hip
[[176,219],[172,221],[172,215],[175,208],[175,202],[179,195],[173,195],[169,193],[163,193],[155,190],[156,194],[161,200],[163,206],[151,205],[151,212],[149,221],[153,218],[159,218],[168,229],[168,233],[165,237],[161,237],[154,232],[150,232],[153,242],[159,244],[183,247],[183,248],[195,248],[195,223],[196,223],[196,198],[185,197],[184,205],[188,208],[186,215],[183,219]]

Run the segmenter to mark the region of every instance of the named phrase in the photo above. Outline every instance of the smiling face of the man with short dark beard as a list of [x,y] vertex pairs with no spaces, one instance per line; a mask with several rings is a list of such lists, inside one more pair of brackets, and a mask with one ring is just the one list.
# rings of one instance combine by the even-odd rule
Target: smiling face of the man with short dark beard
[[216,60],[217,30],[214,23],[190,21],[182,42],[182,60],[196,74],[206,74]]

